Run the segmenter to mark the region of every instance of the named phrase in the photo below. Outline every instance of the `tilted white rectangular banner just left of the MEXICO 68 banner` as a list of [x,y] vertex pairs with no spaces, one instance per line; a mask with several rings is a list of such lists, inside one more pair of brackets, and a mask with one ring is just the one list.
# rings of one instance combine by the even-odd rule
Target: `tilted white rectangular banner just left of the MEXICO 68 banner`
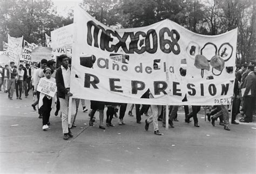
[[72,45],[73,42],[73,24],[60,27],[51,31],[52,49],[64,48]]

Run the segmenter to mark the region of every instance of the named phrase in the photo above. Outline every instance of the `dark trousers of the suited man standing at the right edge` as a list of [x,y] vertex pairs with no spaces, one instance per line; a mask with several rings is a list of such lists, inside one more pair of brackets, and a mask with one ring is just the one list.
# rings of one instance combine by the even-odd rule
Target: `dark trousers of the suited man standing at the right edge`
[[252,122],[252,113],[254,111],[254,97],[244,97],[244,112],[245,112],[245,121]]

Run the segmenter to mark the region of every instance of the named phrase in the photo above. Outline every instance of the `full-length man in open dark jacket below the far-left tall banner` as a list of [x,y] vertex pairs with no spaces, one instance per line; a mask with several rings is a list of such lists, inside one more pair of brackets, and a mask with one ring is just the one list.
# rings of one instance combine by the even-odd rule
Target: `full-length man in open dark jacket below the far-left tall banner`
[[12,96],[14,96],[15,89],[15,77],[17,75],[17,69],[14,67],[14,62],[10,62],[10,68],[8,69],[9,78],[8,78],[8,98],[12,100]]

